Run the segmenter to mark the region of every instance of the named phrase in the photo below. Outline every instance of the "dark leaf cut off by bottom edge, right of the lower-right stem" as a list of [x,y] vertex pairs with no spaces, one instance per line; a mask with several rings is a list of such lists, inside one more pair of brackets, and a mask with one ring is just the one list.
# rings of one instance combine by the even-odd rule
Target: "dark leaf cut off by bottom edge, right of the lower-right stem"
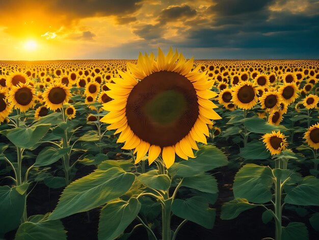
[[290,222],[282,228],[282,240],[308,240],[308,230],[304,223]]

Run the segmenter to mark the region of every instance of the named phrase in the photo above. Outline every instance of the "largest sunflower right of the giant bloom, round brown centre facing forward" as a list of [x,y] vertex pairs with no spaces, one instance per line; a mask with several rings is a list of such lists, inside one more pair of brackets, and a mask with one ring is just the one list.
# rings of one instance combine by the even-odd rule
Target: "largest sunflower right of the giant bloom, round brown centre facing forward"
[[232,101],[239,108],[251,109],[257,104],[257,89],[251,82],[241,82],[232,88]]

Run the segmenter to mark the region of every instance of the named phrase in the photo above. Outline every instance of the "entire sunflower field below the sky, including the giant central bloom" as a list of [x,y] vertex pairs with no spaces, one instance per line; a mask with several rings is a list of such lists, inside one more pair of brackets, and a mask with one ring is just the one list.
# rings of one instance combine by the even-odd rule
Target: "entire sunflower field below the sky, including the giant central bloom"
[[0,62],[0,239],[319,239],[319,61]]

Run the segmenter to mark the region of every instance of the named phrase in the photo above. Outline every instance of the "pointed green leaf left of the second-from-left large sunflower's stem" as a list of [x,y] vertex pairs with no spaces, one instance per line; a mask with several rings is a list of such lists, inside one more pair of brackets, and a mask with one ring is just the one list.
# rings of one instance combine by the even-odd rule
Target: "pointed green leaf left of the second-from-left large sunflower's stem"
[[44,148],[36,158],[36,166],[47,166],[55,163],[70,151],[71,147],[56,149],[52,147]]

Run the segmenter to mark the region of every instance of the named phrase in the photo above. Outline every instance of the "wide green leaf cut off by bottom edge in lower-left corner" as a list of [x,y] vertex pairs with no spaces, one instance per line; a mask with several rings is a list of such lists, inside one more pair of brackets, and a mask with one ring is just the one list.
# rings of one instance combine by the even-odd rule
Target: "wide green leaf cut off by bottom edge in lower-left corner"
[[15,234],[15,240],[67,239],[60,220],[39,221],[41,216],[32,216],[34,218],[30,217],[28,222],[21,224]]

